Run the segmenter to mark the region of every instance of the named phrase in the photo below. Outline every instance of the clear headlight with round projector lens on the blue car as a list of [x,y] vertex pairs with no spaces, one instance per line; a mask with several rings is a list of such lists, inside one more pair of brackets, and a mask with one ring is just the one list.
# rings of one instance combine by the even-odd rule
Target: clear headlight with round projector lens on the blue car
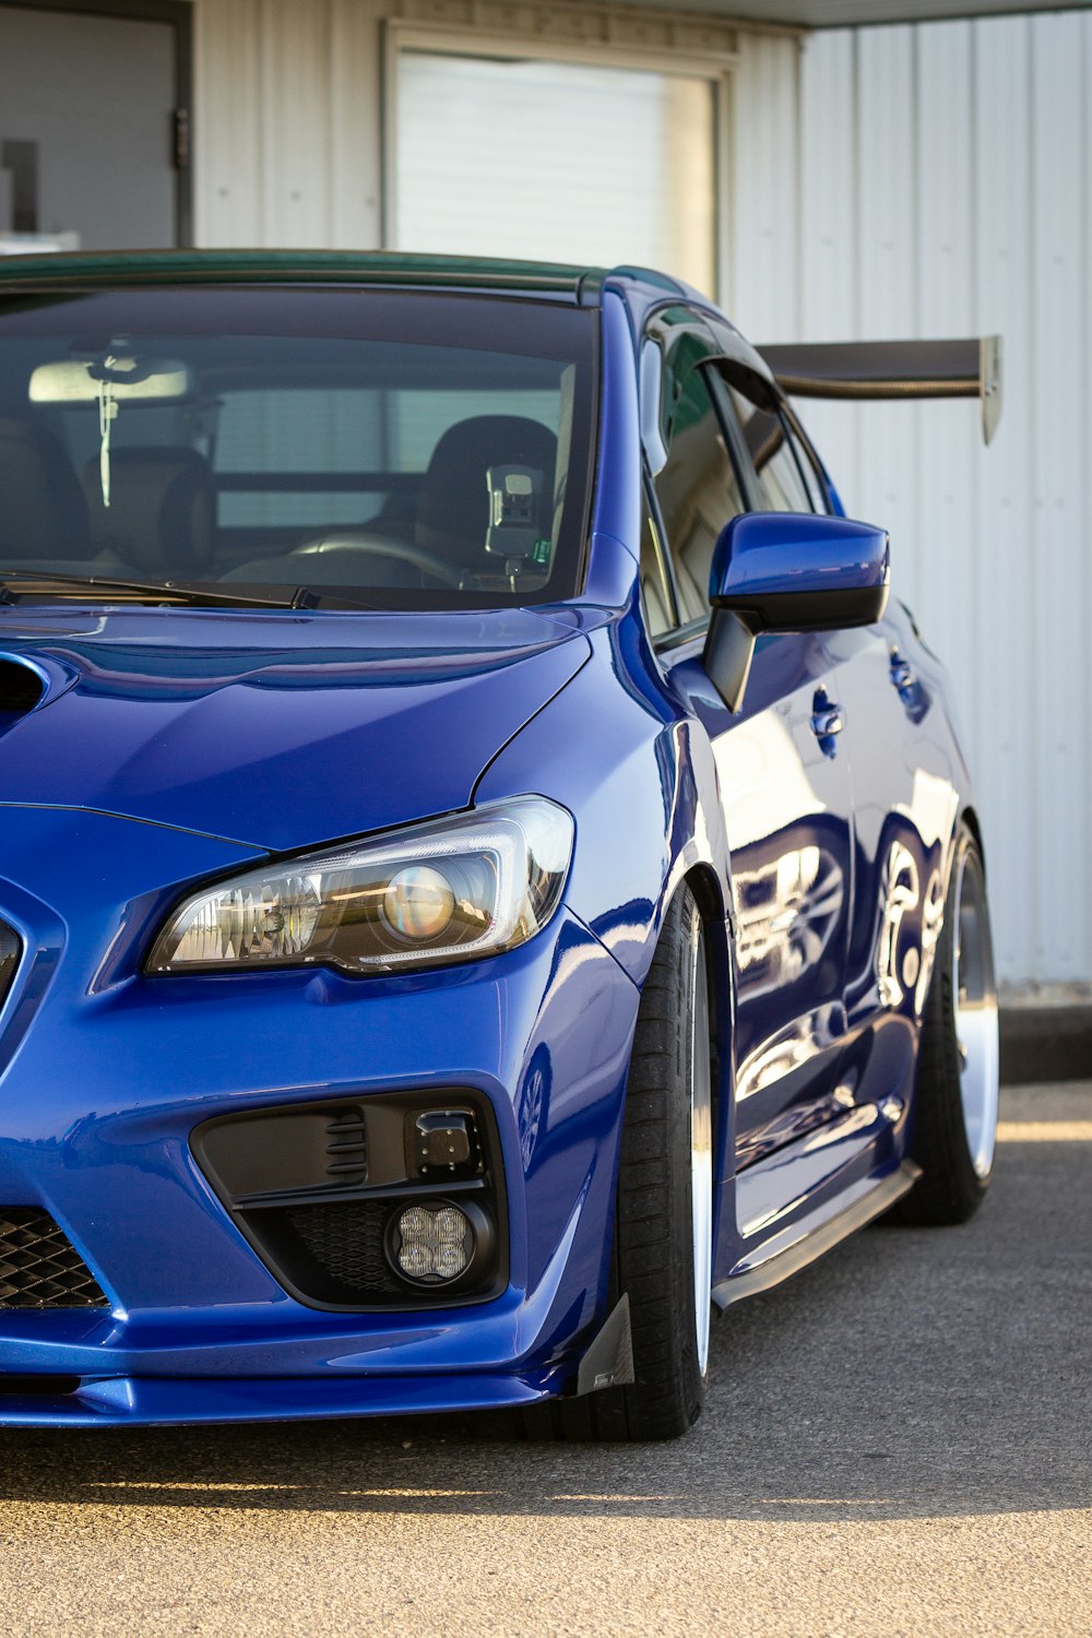
[[547,924],[571,853],[571,816],[544,796],[521,796],[282,860],[187,899],[147,970],[390,973],[499,955]]

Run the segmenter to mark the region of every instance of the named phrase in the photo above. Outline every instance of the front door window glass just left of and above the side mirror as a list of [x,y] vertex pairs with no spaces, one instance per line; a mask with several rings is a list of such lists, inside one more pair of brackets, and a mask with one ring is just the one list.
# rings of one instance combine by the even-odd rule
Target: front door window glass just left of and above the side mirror
[[704,372],[691,370],[675,406],[668,460],[655,478],[683,624],[709,613],[712,549],[724,526],[745,511],[720,419]]

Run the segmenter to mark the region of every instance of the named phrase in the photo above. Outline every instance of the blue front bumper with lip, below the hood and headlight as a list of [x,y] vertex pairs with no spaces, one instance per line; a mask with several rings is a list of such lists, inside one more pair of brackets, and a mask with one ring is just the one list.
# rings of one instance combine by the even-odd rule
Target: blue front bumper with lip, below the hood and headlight
[[[606,1301],[639,1002],[576,917],[417,976],[147,980],[139,955],[178,886],[249,850],[18,808],[0,809],[0,916],[26,947],[0,1012],[0,1206],[47,1210],[108,1297],[0,1309],[0,1422],[447,1410],[571,1384]],[[190,1150],[221,1114],[450,1088],[488,1099],[506,1179],[509,1279],[481,1304],[305,1305]]]

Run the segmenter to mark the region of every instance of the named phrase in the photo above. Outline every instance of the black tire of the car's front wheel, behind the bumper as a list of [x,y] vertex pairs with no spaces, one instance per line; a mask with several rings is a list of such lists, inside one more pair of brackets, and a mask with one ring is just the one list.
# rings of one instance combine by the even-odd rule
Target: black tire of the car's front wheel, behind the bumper
[[609,1307],[629,1294],[635,1381],[524,1412],[530,1437],[676,1438],[701,1415],[691,1065],[697,1035],[707,1043],[709,1086],[715,1086],[709,1016],[701,912],[683,888],[642,991],[622,1122]]

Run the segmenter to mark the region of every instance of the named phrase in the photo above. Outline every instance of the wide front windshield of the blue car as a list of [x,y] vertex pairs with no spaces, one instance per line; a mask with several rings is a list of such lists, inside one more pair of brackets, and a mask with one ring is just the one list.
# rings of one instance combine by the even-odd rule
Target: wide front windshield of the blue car
[[380,608],[573,596],[594,336],[589,311],[511,296],[13,293],[0,585]]

